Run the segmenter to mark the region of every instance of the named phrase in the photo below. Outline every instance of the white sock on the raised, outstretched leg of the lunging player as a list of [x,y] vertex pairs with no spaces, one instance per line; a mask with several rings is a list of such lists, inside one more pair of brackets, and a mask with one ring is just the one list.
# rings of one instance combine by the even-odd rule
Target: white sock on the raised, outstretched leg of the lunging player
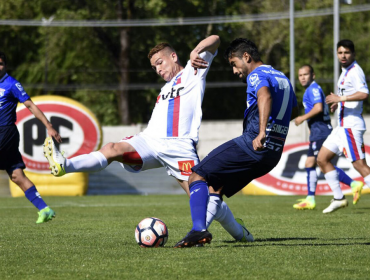
[[96,172],[108,166],[108,160],[97,151],[86,155],[80,155],[71,159],[66,159],[66,173],[72,172]]

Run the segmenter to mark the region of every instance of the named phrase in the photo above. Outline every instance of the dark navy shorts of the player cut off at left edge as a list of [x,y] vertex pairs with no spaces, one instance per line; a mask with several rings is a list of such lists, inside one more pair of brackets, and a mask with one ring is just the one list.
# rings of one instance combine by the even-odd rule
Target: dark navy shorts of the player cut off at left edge
[[19,132],[15,125],[0,126],[0,169],[10,175],[13,170],[26,166],[19,152]]

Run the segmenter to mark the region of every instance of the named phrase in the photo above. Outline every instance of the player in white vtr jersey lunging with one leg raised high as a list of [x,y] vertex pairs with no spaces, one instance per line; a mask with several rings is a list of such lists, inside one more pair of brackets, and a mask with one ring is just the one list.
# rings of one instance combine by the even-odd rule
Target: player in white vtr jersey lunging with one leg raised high
[[[182,66],[168,43],[155,46],[148,55],[150,64],[166,84],[157,97],[148,127],[141,133],[109,143],[97,152],[65,159],[51,138],[44,144],[44,154],[52,173],[62,176],[73,172],[95,172],[118,161],[130,172],[164,166],[189,195],[191,168],[199,163],[196,151],[206,76],[217,54],[220,39],[212,35],[202,40]],[[214,194],[208,204],[207,226],[215,219],[237,240],[249,235],[241,219],[234,219],[227,204]],[[250,241],[250,240],[248,240]]]

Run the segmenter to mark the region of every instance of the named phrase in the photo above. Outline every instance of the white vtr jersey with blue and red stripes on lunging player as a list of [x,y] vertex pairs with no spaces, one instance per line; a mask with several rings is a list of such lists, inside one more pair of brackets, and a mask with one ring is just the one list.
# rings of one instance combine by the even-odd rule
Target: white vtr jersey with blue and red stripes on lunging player
[[207,68],[198,69],[194,75],[189,60],[185,68],[162,87],[143,133],[158,138],[191,138],[198,142],[206,76],[216,55],[217,51],[215,54],[202,52],[199,56],[208,62]]

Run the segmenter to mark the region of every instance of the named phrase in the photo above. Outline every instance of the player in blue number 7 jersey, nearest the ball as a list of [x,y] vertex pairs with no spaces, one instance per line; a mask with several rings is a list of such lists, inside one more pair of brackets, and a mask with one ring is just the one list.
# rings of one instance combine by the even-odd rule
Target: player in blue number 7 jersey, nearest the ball
[[[192,168],[189,188],[193,227],[175,248],[212,240],[206,229],[209,192],[231,197],[253,179],[270,172],[280,160],[289,122],[298,115],[289,79],[263,64],[252,41],[235,39],[225,58],[233,73],[248,84],[243,134],[217,147]],[[253,240],[252,234],[248,238]]]

